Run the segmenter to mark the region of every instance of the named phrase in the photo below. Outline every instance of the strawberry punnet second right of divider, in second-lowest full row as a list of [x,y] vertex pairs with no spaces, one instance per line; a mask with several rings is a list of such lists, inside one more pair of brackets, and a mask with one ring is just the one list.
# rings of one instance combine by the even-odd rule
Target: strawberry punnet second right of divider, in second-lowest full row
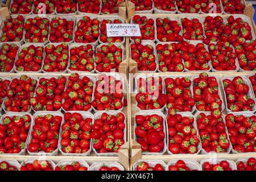
[[164,79],[164,85],[169,112],[192,111],[195,100],[192,97],[191,80],[188,77],[167,77]]

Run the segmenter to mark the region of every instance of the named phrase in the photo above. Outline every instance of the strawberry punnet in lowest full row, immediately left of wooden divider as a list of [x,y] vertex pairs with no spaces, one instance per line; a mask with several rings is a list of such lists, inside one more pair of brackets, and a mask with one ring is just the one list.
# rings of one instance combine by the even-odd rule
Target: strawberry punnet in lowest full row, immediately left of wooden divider
[[125,114],[102,112],[98,116],[100,118],[94,119],[90,134],[94,150],[98,153],[118,152],[125,143]]

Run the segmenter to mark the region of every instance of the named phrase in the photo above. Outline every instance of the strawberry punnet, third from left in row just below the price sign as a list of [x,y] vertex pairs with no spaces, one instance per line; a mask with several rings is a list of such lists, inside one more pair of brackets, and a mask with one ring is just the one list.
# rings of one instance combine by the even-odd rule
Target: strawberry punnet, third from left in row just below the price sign
[[44,72],[64,72],[68,66],[68,44],[49,43],[44,47],[46,56],[44,57]]

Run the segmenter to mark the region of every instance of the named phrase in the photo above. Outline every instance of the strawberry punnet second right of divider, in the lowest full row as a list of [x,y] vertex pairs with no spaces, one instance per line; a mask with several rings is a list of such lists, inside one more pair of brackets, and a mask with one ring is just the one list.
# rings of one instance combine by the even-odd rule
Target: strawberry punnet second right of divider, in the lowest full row
[[167,115],[168,151],[172,154],[197,154],[200,139],[193,127],[194,117],[181,114]]

